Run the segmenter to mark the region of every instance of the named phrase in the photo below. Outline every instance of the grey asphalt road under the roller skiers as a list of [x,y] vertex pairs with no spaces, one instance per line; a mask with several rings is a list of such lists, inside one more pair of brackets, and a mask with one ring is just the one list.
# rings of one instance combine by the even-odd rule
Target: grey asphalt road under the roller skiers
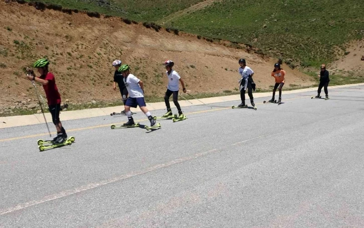
[[363,227],[364,86],[329,92],[186,107],[153,132],[67,121],[76,142],[45,152],[45,126],[2,129],[0,227]]

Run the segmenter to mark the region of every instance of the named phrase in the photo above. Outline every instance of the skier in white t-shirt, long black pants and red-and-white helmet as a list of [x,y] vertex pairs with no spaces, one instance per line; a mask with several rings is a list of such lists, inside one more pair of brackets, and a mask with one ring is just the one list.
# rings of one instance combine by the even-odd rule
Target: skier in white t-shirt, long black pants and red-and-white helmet
[[178,118],[184,118],[184,113],[180,109],[180,105],[178,103],[178,90],[179,90],[179,82],[180,82],[182,84],[184,93],[186,93],[185,83],[182,80],[182,78],[180,78],[178,73],[172,69],[172,67],[174,66],[173,61],[166,60],[164,62],[164,66],[165,66],[165,69],[167,70],[166,73],[167,73],[167,77],[168,77],[168,86],[167,86],[167,91],[165,92],[165,95],[164,95],[164,102],[165,102],[165,106],[167,107],[167,112],[163,115],[163,117],[172,117],[173,116],[172,110],[170,109],[170,104],[169,104],[169,97],[170,97],[170,95],[173,94],[173,103],[177,107]]

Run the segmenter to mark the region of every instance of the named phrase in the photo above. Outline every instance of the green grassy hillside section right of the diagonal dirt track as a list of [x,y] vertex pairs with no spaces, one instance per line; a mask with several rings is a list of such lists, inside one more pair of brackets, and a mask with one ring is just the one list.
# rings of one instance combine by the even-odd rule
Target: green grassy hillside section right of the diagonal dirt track
[[226,0],[173,22],[204,36],[251,43],[275,56],[318,65],[364,35],[364,4],[348,1]]

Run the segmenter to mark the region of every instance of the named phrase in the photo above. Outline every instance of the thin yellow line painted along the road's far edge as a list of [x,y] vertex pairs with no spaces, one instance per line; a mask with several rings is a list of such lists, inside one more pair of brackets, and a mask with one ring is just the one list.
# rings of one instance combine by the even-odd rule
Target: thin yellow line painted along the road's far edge
[[[338,92],[342,92],[342,91],[338,91]],[[332,92],[332,93],[338,93],[338,92]],[[288,99],[284,99],[284,100],[294,100],[294,99],[300,99],[300,98],[307,98],[307,96],[288,98]],[[226,101],[226,102],[228,102],[228,101]],[[256,103],[256,104],[263,104],[263,103]],[[186,115],[204,113],[204,112],[209,112],[209,111],[220,111],[220,110],[229,109],[229,108],[231,108],[231,107],[208,109],[208,110],[203,110],[203,111],[194,111],[194,112],[189,112]],[[142,122],[142,121],[147,121],[147,120],[148,119],[142,119],[142,120],[137,120],[135,122]],[[111,125],[122,125],[124,123],[125,122],[116,123],[116,124],[97,125],[97,126],[91,126],[91,127],[86,127],[86,128],[76,128],[76,129],[67,130],[67,132],[76,132],[76,131],[82,131],[82,130],[87,130],[87,129],[104,128],[104,127],[109,127]],[[57,134],[57,133],[52,132],[52,134]],[[40,136],[46,136],[46,135],[48,135],[48,133],[37,134],[37,135],[29,135],[29,136],[21,136],[21,137],[14,137],[14,138],[8,138],[8,139],[0,139],[0,142],[7,142],[7,141],[12,141],[12,140],[18,140],[18,139],[28,139],[28,138],[34,138],[34,137],[40,137]]]

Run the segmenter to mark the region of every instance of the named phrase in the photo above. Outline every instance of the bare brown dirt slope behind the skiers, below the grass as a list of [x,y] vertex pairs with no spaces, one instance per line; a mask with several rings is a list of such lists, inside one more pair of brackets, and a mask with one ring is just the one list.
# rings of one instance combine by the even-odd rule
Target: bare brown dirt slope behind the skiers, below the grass
[[[120,18],[39,11],[27,4],[0,1],[0,21],[3,108],[35,101],[32,85],[22,69],[42,56],[51,60],[50,70],[56,76],[62,99],[69,99],[69,103],[90,102],[91,98],[120,99],[119,91],[112,89],[114,59],[130,64],[132,73],[144,81],[149,96],[161,96],[166,89],[162,65],[166,59],[175,62],[174,69],[193,93],[238,88],[239,58],[246,58],[256,72],[258,88],[267,89],[274,83],[270,77],[274,60],[188,34],[176,36],[164,29],[155,32],[141,24],[128,25]],[[284,67],[287,87],[312,84],[306,75]]]

